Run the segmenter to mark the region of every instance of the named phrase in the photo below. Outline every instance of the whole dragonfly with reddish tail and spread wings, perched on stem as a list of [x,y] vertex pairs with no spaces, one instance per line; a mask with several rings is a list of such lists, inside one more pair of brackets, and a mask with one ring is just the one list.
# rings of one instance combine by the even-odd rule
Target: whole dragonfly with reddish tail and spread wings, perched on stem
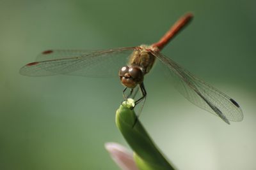
[[[193,19],[192,13],[186,13],[152,45],[140,45],[109,50],[46,50],[35,62],[26,64],[20,74],[26,76],[51,76],[68,74],[87,77],[119,76],[125,90],[138,87],[140,103],[147,96],[144,77],[150,72],[156,60],[159,60],[166,73],[172,78],[172,84],[188,101],[220,117],[224,122],[243,120],[243,111],[239,104],[220,90],[200,80],[184,69],[161,50]],[[122,66],[122,67],[121,67]],[[118,71],[119,70],[119,71]],[[130,93],[130,94],[131,94]],[[127,99],[127,96],[124,95]]]

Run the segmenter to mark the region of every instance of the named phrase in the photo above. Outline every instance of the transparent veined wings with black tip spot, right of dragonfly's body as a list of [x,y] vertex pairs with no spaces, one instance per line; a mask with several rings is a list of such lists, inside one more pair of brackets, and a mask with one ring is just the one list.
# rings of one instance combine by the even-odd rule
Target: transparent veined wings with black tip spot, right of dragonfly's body
[[173,60],[158,52],[152,52],[168,69],[173,85],[191,103],[219,116],[227,124],[243,120],[243,112],[234,99],[211,85],[196,78]]

